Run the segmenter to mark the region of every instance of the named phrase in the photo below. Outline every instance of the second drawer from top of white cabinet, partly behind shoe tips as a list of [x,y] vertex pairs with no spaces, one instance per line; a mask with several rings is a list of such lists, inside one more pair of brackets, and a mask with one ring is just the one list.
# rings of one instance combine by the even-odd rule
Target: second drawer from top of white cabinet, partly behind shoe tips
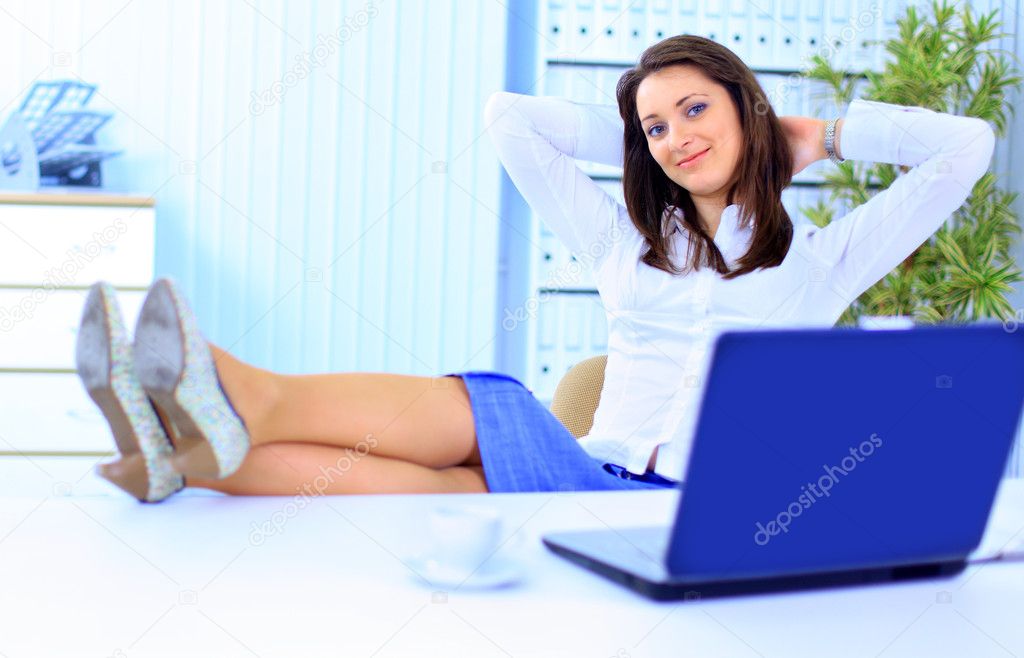
[[[74,368],[87,295],[84,290],[0,289],[0,367]],[[144,297],[137,291],[118,293],[129,334]]]

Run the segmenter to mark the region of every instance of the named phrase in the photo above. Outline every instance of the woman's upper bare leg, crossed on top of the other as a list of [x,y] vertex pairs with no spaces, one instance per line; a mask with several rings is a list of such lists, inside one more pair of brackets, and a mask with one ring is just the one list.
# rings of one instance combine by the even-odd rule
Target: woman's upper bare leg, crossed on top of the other
[[371,456],[430,469],[480,465],[473,412],[460,378],[278,375],[215,345],[210,349],[254,447],[299,442],[369,450]]

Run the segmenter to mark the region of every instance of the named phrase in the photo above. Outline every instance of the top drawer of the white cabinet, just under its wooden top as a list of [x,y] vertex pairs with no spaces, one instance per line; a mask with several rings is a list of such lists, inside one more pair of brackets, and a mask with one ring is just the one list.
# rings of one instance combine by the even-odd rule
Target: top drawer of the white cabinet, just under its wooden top
[[153,208],[0,205],[0,286],[148,286]]

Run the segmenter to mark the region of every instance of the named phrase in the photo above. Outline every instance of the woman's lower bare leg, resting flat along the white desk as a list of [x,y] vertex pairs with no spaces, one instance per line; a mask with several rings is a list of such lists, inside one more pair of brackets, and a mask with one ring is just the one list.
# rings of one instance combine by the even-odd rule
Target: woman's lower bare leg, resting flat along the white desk
[[242,495],[337,493],[482,493],[480,467],[428,467],[354,450],[304,443],[255,446],[223,480],[187,478],[191,487]]

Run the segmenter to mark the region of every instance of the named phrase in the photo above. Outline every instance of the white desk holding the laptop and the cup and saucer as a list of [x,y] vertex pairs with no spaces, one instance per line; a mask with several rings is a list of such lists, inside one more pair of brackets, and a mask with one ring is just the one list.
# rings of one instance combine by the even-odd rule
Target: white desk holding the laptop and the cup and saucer
[[[660,522],[672,492],[328,496],[299,510],[196,490],[143,506],[91,477],[67,496],[0,487],[0,655],[1024,656],[1022,562],[943,581],[657,604],[540,543],[556,529]],[[526,580],[446,595],[420,582],[401,558],[441,501],[499,507],[523,539]],[[254,545],[254,524],[283,512],[295,514],[282,532]],[[1015,535],[1019,480],[1000,491],[986,542]]]

